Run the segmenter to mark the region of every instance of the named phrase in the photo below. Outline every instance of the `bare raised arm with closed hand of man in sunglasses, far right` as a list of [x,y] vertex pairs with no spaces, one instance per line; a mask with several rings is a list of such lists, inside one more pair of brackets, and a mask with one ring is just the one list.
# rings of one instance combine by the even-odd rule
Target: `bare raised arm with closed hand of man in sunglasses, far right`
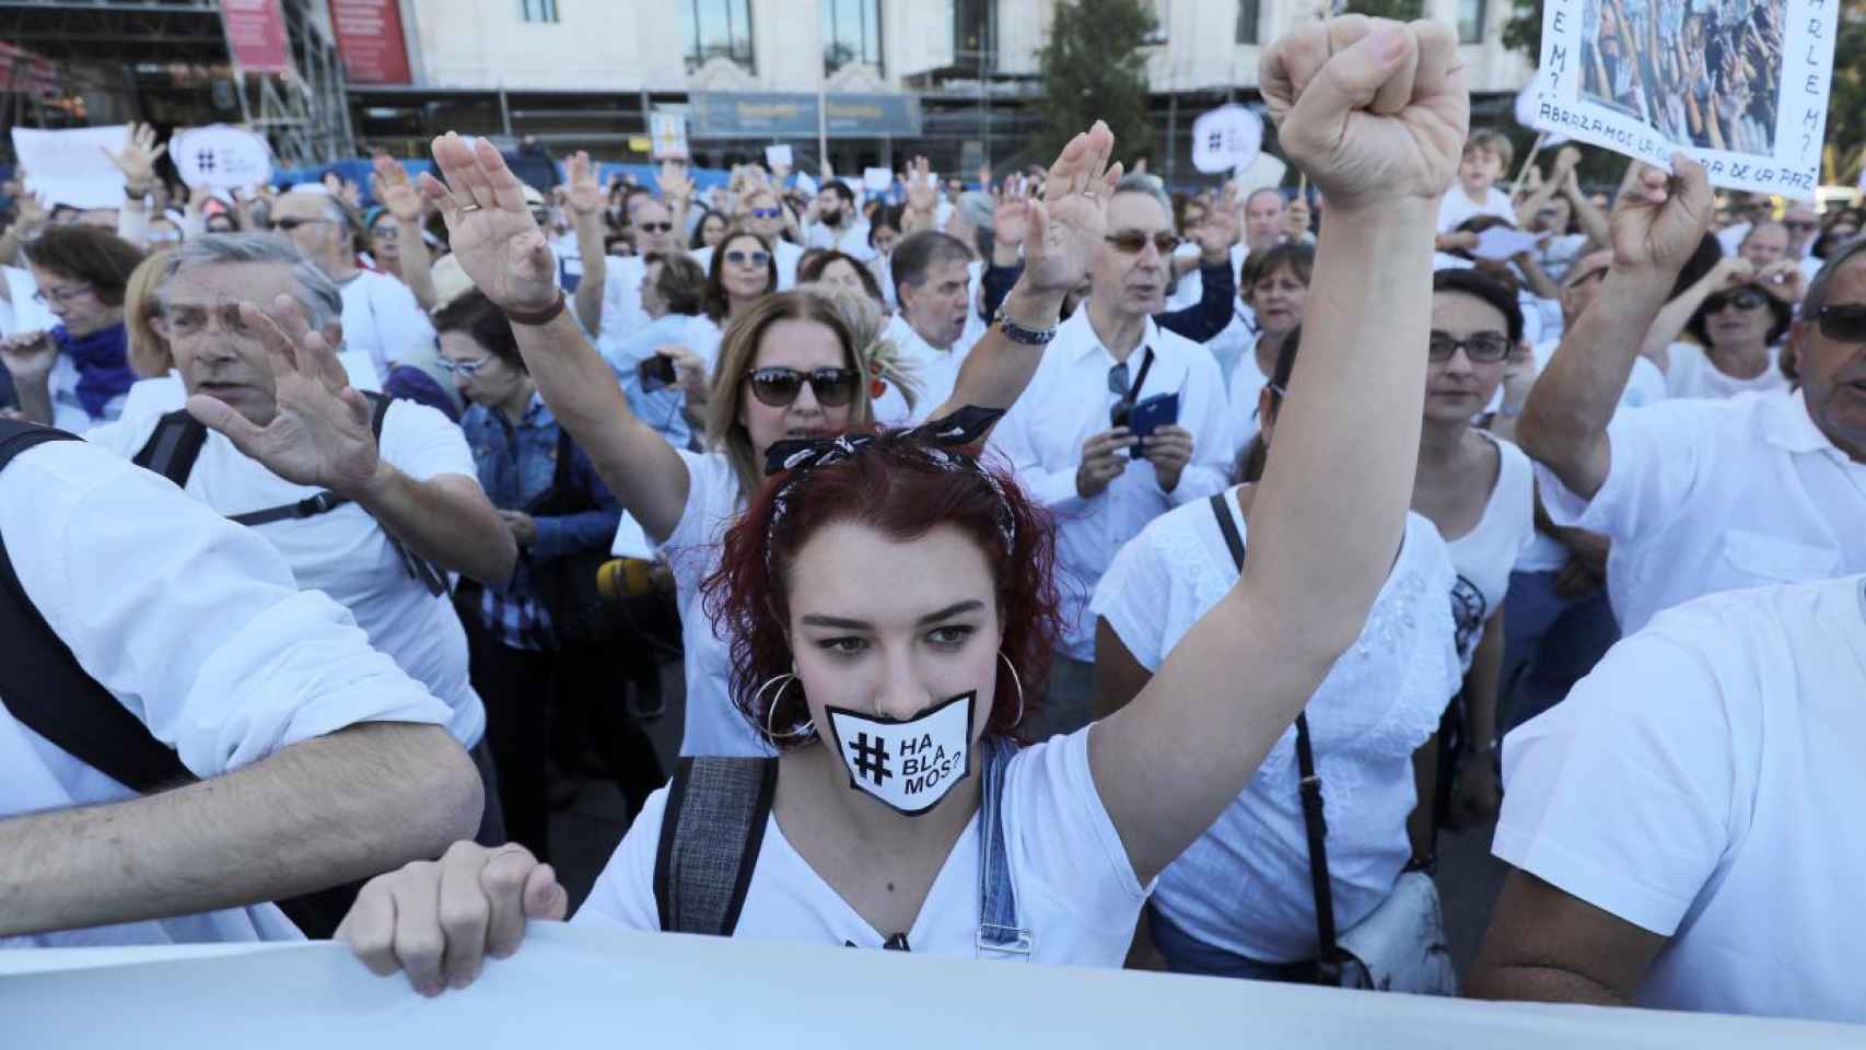
[[1607,481],[1607,423],[1633,360],[1711,220],[1704,166],[1683,153],[1672,157],[1672,166],[1678,175],[1670,181],[1664,172],[1644,168],[1622,190],[1607,283],[1562,336],[1517,420],[1523,451],[1584,500]]

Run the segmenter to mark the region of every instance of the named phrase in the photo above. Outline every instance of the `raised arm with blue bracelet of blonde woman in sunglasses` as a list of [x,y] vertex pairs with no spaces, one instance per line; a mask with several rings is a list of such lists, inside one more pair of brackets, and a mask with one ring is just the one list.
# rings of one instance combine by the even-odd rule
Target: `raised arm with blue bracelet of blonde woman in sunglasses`
[[[1004,298],[1004,315],[1023,328],[1054,328],[1062,317],[1062,300],[1088,272],[1101,231],[1105,211],[1121,166],[1108,166],[1114,153],[1114,132],[1108,125],[1075,136],[1051,164],[1043,183],[1043,200],[1030,200],[1023,231],[1024,270]],[[933,410],[931,420],[980,405],[1010,408],[1030,384],[1043,362],[1043,347],[1013,343],[1000,325],[993,325],[965,356],[952,397]]]

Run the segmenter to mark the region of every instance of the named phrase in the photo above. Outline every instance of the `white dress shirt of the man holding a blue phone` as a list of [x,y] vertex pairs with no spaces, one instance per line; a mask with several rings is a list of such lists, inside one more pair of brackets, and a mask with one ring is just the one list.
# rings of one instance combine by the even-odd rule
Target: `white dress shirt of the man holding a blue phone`
[[[1077,496],[1082,444],[1108,429],[1108,369],[1118,362],[1088,321],[1088,304],[1062,323],[1030,386],[991,433],[991,448],[1017,479],[1056,517],[1056,587],[1065,625],[1064,653],[1095,658],[1095,619],[1088,597],[1123,543],[1179,504],[1218,492],[1230,481],[1230,436],[1224,379],[1205,347],[1146,319],[1140,345],[1127,356],[1127,380],[1140,377],[1146,349],[1153,367],[1136,401],[1179,392],[1179,427],[1192,433],[1192,461],[1172,492],[1163,492],[1153,464],[1133,459],[1099,494]],[[1125,453],[1123,453],[1125,455]]]

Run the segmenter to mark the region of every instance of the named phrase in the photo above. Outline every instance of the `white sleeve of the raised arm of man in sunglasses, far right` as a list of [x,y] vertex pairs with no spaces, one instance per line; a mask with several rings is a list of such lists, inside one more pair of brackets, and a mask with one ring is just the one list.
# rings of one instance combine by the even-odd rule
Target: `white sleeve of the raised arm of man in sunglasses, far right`
[[1664,401],[1622,412],[1607,427],[1607,481],[1592,500],[1562,485],[1553,470],[1536,464],[1549,520],[1562,528],[1599,532],[1622,543],[1638,543],[1685,513],[1698,485],[1707,408],[1717,401]]

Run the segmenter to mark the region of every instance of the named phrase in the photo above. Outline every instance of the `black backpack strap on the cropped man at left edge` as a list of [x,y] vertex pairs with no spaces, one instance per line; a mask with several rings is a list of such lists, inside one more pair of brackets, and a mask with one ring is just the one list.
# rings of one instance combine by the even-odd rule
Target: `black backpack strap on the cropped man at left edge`
[[[43,442],[78,440],[63,431],[0,425],[0,468]],[[34,733],[110,780],[147,794],[196,780],[175,752],[149,735],[110,690],[97,684],[32,604],[0,543],[0,703]]]

